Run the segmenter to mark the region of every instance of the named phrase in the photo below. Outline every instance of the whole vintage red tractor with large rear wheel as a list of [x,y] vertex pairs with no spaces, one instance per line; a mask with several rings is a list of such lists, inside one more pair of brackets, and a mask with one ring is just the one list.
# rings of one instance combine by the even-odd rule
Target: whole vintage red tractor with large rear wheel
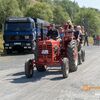
[[35,59],[25,62],[25,75],[31,78],[34,74],[34,67],[37,71],[43,72],[48,66],[60,66],[63,78],[67,78],[69,71],[77,70],[78,60],[77,41],[72,31],[65,32],[62,41],[37,39]]

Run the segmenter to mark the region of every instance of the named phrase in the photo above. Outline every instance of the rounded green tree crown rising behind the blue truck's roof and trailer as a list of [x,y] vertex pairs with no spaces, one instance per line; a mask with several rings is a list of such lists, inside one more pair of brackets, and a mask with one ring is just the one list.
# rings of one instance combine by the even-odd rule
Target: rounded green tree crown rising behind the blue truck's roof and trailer
[[48,4],[37,2],[33,6],[29,7],[25,16],[52,21],[53,13],[51,7]]

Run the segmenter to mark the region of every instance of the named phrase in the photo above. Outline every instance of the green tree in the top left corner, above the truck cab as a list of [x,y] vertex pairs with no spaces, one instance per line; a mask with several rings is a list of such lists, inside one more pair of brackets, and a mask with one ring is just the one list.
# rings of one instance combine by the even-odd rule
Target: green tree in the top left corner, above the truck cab
[[9,16],[22,16],[16,0],[0,0],[0,29]]

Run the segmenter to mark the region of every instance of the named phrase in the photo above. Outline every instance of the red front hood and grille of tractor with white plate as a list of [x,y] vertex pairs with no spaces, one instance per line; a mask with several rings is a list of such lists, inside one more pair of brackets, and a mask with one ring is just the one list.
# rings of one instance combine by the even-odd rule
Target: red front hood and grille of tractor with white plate
[[37,63],[52,66],[59,61],[60,42],[55,40],[39,41],[37,52]]

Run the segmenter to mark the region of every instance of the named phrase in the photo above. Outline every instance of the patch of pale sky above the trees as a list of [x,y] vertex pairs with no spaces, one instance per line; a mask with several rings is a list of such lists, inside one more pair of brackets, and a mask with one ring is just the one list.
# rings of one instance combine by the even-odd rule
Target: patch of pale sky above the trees
[[71,0],[79,4],[80,7],[92,7],[100,10],[100,0]]

